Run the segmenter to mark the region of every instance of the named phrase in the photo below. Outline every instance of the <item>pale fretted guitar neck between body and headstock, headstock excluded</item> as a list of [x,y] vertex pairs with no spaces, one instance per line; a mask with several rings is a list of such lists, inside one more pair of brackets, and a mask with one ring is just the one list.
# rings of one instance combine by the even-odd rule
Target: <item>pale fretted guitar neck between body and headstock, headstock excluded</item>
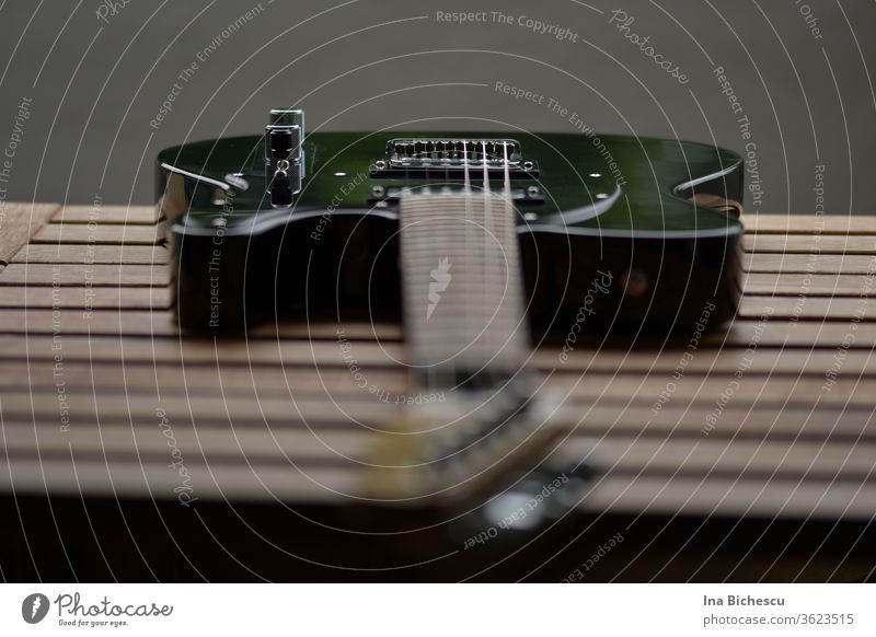
[[517,212],[500,195],[400,202],[404,329],[422,389],[507,377],[529,350]]

